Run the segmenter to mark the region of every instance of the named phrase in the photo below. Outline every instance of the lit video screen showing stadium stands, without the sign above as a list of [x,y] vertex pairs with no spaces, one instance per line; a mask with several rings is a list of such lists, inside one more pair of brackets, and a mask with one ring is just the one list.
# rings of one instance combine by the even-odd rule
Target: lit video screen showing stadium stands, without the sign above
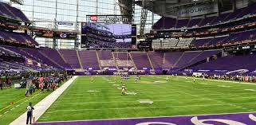
[[132,47],[132,25],[82,22],[81,47],[130,49]]

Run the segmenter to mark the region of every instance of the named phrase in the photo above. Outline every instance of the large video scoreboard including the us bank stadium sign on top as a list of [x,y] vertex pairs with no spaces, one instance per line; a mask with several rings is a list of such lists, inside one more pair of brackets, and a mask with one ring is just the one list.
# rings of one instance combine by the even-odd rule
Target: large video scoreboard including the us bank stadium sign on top
[[87,15],[81,22],[81,48],[135,49],[136,25],[126,15]]

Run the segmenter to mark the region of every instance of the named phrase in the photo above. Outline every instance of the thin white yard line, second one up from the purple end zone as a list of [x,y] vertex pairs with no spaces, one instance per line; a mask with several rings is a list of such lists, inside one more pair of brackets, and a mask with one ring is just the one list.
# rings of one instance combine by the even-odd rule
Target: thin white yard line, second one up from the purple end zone
[[[223,98],[215,98],[215,100],[219,100],[219,99],[226,99],[226,97]],[[250,100],[256,100],[255,97],[235,97],[233,99],[250,99]],[[168,102],[168,101],[186,101],[186,100],[212,100],[210,98],[200,98],[200,99],[183,99],[183,100],[153,100],[154,102]],[[61,103],[55,103],[55,104],[111,104],[111,103],[137,103],[138,101],[136,100],[131,100],[131,101],[91,101],[91,102],[81,102],[81,103],[77,103],[77,102],[61,102]],[[246,103],[245,103],[246,104]]]

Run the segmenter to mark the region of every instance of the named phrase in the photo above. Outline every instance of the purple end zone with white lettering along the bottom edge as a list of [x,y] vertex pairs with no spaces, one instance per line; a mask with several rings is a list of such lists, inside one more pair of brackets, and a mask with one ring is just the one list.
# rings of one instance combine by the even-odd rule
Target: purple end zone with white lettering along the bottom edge
[[96,119],[86,121],[60,121],[36,123],[36,125],[253,125],[256,124],[256,112],[217,114],[217,115],[180,115],[163,117],[145,117],[128,119]]

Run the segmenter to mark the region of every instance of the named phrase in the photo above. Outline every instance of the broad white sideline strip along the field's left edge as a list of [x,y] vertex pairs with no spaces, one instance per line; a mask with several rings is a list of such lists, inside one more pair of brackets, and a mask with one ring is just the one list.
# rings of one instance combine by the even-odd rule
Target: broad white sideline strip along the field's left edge
[[[76,79],[77,76],[73,76],[73,78],[65,82],[65,84],[62,84],[60,88],[57,88],[57,90],[49,94],[49,96],[46,96],[45,99],[41,100],[34,106],[35,110],[33,111],[33,117],[35,117],[36,121],[41,117],[41,115],[45,113],[45,111],[54,103],[54,101],[57,100],[59,96],[61,96],[65,89],[68,88],[69,85],[72,84],[73,81]],[[26,107],[24,107],[24,111],[25,109]],[[15,119],[12,123],[10,123],[10,125],[26,125],[26,112],[20,115],[18,119]]]

